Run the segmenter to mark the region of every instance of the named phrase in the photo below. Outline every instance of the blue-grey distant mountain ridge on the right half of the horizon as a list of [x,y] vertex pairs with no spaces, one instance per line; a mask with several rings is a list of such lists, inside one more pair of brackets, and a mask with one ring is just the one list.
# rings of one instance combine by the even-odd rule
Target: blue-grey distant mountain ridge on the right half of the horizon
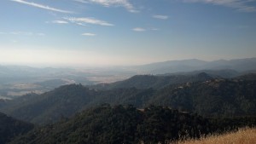
[[237,72],[256,70],[256,58],[234,59],[234,60],[169,60],[165,62],[152,63],[143,66],[132,67],[137,72],[164,74],[173,72],[192,72],[198,70],[222,70],[230,69]]

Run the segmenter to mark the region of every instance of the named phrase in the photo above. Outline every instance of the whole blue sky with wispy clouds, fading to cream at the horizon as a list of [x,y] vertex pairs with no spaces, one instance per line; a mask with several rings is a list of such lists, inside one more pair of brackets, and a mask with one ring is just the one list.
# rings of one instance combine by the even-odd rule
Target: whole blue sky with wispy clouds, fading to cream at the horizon
[[256,0],[1,0],[0,65],[256,57]]

